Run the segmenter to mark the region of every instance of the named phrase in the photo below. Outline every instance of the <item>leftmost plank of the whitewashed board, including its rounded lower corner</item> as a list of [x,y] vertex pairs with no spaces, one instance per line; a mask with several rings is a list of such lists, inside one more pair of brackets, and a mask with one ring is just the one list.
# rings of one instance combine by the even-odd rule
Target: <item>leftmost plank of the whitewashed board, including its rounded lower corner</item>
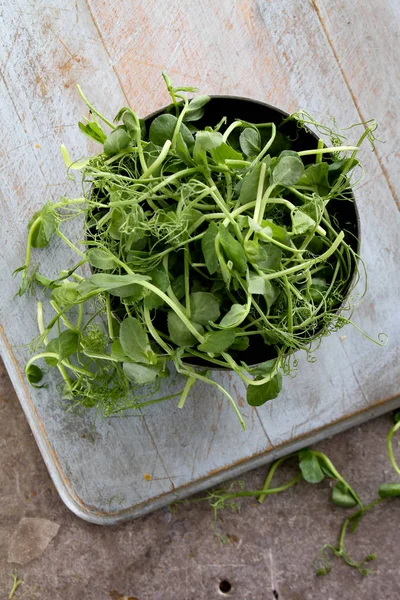
[[[92,487],[111,509],[113,503],[119,506],[118,486],[114,498],[101,488],[104,476],[107,479],[109,473],[113,477],[119,467],[115,461],[112,465],[105,464],[98,439],[104,439],[107,452],[108,426],[98,436],[92,418],[89,422],[85,418],[66,418],[55,381],[50,382],[49,389],[37,391],[25,384],[23,364],[29,353],[24,344],[37,335],[35,300],[28,297],[15,300],[18,282],[12,272],[23,262],[26,224],[35,210],[46,200],[58,199],[60,194],[79,194],[79,186],[66,179],[60,153],[61,143],[66,144],[73,156],[89,151],[87,138],[77,135],[76,123],[85,110],[75,84],[82,82],[89,95],[99,94],[111,114],[125,98],[84,3],[76,3],[69,10],[62,2],[53,2],[50,7],[37,3],[34,9],[30,3],[20,2],[13,8],[6,7],[4,13],[7,26],[3,25],[0,46],[2,352],[64,499],[74,504],[75,499],[68,498],[71,492],[76,491],[79,498],[85,499],[87,489]],[[80,236],[76,231],[76,238]],[[55,275],[59,261],[65,259],[73,264],[72,256],[55,243],[44,269]],[[113,431],[118,431],[119,425],[123,426],[122,422]],[[143,456],[146,456],[154,471],[153,492],[168,491],[171,482],[148,430],[135,419],[129,435],[140,436],[140,450],[131,456],[123,446],[123,436],[115,433],[112,445],[115,448],[120,444],[118,455],[129,459],[131,472],[136,473],[144,469]],[[93,452],[95,447],[97,450]],[[136,497],[143,500],[140,493]]]

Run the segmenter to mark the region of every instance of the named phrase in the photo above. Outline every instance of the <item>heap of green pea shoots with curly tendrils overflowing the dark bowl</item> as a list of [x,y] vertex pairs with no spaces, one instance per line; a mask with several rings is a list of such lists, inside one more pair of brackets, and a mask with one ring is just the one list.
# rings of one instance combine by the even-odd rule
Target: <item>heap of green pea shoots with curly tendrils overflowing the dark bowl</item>
[[[295,351],[312,360],[312,342],[351,322],[338,309],[358,275],[357,240],[330,206],[352,202],[350,173],[375,123],[354,146],[304,112],[278,125],[196,127],[210,98],[189,100],[194,89],[164,79],[172,104],[146,122],[126,107],[109,121],[78,87],[90,112],[79,127],[101,151],[72,162],[62,147],[84,194],[46,203],[29,223],[19,293],[41,285],[55,315],[45,324],[38,302],[26,374],[40,385],[44,361],[58,368],[72,406],[110,415],[164,400],[146,398],[172,361],[187,378],[180,407],[195,381],[207,382],[244,426],[208,369],[235,371],[248,403],[260,406],[278,395]],[[314,149],[292,150],[288,121],[299,135],[314,124],[330,146],[316,139]],[[78,248],[64,225],[82,216]],[[31,249],[54,235],[78,262],[50,280],[29,265]]]

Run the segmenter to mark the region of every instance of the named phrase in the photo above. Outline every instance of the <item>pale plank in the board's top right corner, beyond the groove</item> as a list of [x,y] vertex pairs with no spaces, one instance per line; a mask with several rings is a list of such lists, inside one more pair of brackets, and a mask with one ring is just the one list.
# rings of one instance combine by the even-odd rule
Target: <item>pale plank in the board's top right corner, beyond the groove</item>
[[379,125],[376,154],[400,207],[400,3],[313,0],[360,120]]

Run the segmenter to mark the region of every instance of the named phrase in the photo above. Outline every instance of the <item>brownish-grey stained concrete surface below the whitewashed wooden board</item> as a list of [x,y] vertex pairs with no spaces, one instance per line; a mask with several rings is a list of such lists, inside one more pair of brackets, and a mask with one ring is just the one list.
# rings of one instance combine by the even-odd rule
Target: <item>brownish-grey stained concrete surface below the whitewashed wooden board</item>
[[[221,513],[213,533],[207,502],[174,508],[120,526],[91,525],[61,502],[4,368],[0,371],[0,598],[8,598],[14,570],[24,583],[16,600],[396,600],[400,597],[398,518],[400,501],[377,507],[349,536],[355,558],[375,551],[375,573],[362,577],[338,560],[332,573],[316,577],[313,559],[325,542],[335,542],[346,513],[329,501],[327,483],[298,484],[260,506],[242,501],[239,513]],[[319,444],[364,499],[379,483],[395,480],[386,455],[387,415]],[[400,443],[395,441],[395,448]],[[242,477],[258,489],[266,468]],[[293,474],[284,467],[281,481]],[[56,531],[40,556],[24,565],[8,562],[22,519],[42,519]],[[48,522],[53,524],[53,527]],[[42,521],[31,527],[39,535]],[[23,521],[23,524],[26,522]],[[44,527],[44,530],[46,529]],[[26,526],[23,529],[26,531]],[[36,532],[36,533],[35,533]],[[29,534],[26,545],[32,545]],[[42,535],[43,538],[43,535]],[[14,541],[13,541],[14,540]],[[21,542],[21,540],[20,540]],[[42,546],[43,539],[41,539]],[[21,562],[27,553],[22,537]],[[222,581],[232,586],[219,591]],[[228,586],[229,587],[229,586]]]

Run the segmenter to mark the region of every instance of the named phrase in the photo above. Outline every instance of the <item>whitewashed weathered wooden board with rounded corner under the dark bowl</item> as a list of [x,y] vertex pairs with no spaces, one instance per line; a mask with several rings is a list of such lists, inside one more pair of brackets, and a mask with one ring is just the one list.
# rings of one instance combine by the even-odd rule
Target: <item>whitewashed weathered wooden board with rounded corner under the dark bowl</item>
[[[372,0],[366,4],[372,6]],[[335,5],[344,10],[339,0],[329,3],[330,27]],[[145,116],[168,102],[160,76],[168,69],[173,81],[196,85],[203,93],[244,95],[288,111],[306,108],[322,121],[335,115],[349,125],[360,120],[354,102],[361,94],[360,79],[352,75],[350,93],[338,57],[340,62],[346,56],[349,80],[366,42],[359,35],[353,55],[344,54],[340,32],[332,26],[327,36],[321,18],[325,4],[320,14],[315,6],[296,0],[78,0],[69,5],[18,0],[13,8],[2,7],[1,351],[55,484],[85,519],[112,523],[153,510],[400,404],[400,219],[388,185],[393,188],[395,163],[384,160],[390,149],[396,151],[395,132],[385,150],[381,146],[380,161],[364,151],[368,175],[356,194],[370,282],[354,319],[372,336],[386,331],[387,347],[346,327],[324,340],[315,364],[299,355],[297,377],[286,378],[280,397],[257,410],[246,406],[236,376],[216,374],[242,407],[246,432],[227,401],[202,385],[196,385],[183,411],[171,400],[149,407],[144,416],[93,423],[90,414],[65,413],[56,377],[48,389],[35,390],[23,376],[29,356],[24,344],[37,333],[35,300],[14,298],[18,281],[11,274],[23,262],[33,212],[47,199],[77,191],[66,180],[60,144],[73,156],[91,150],[76,127],[84,107],[75,83],[105,114],[113,116],[129,103]],[[393,2],[379,0],[373,6],[384,12]],[[398,25],[397,13],[390,14]],[[368,27],[370,18],[363,15],[362,22]],[[378,26],[369,35],[375,36],[372,59],[379,66],[387,41],[382,42]],[[394,73],[394,64],[389,66]],[[370,69],[374,85],[381,76],[379,69]],[[370,94],[365,89],[362,94],[368,117],[378,106],[374,85]],[[398,79],[393,77],[390,86],[395,106]],[[41,261],[47,256],[49,273],[69,260],[57,244],[51,255],[37,252]],[[182,382],[173,376],[168,385],[179,389]]]

